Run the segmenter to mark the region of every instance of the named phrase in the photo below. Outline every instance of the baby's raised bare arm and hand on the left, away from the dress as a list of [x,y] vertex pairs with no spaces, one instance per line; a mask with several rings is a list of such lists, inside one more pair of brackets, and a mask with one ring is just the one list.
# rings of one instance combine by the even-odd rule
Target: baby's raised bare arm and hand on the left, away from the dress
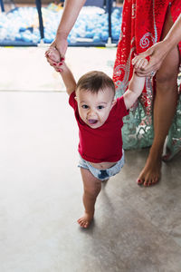
[[[56,49],[51,49],[49,55],[54,62],[56,63],[60,62],[60,54]],[[57,68],[55,68],[55,70],[57,71]],[[71,95],[71,92],[75,91],[76,88],[76,82],[73,77],[73,74],[71,73],[71,70],[66,65],[66,63],[62,62],[58,71],[62,75],[62,80],[63,83],[65,84],[67,93]]]

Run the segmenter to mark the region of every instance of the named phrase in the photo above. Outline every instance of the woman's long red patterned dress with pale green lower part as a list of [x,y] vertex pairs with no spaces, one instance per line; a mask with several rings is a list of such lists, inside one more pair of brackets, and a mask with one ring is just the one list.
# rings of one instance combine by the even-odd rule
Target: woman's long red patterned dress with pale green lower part
[[[134,54],[142,53],[160,41],[169,5],[175,22],[181,13],[181,0],[124,1],[121,34],[113,73],[117,97],[128,88],[133,72],[131,60]],[[179,50],[181,55],[181,43]],[[147,78],[142,95],[124,120],[122,130],[124,149],[151,145],[153,141],[152,104],[153,88],[151,79]],[[181,99],[178,102],[176,117],[169,131],[168,140],[169,148],[175,149],[174,152],[181,150]]]

